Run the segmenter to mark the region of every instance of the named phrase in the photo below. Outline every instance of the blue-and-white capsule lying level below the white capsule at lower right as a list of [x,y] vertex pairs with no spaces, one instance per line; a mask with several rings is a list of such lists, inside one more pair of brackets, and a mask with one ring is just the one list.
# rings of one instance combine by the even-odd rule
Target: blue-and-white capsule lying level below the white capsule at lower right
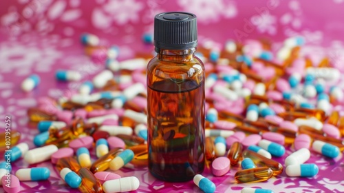
[[305,163],[301,165],[288,165],[286,174],[290,177],[312,177],[318,174],[319,168],[314,163]]

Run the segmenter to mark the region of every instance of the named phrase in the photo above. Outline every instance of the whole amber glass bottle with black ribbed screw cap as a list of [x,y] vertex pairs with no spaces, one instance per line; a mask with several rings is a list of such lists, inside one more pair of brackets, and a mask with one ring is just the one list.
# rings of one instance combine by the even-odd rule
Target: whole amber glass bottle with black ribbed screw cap
[[157,14],[154,45],[157,55],[147,65],[149,172],[164,181],[189,181],[204,170],[205,159],[205,73],[194,54],[195,14]]

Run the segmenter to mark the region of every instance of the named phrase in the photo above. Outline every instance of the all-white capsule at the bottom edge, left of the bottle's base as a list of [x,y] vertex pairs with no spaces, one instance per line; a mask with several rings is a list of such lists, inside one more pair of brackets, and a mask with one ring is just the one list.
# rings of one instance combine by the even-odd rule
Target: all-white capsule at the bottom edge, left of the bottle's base
[[140,181],[135,176],[124,177],[116,180],[105,181],[103,183],[103,190],[105,193],[112,192],[129,192],[137,190],[140,186]]

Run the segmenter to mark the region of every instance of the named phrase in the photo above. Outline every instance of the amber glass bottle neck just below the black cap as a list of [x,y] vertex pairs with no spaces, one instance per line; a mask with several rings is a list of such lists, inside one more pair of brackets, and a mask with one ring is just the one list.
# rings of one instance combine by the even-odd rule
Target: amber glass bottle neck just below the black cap
[[193,60],[196,48],[189,48],[186,50],[164,50],[155,48],[158,59],[162,61],[186,62]]

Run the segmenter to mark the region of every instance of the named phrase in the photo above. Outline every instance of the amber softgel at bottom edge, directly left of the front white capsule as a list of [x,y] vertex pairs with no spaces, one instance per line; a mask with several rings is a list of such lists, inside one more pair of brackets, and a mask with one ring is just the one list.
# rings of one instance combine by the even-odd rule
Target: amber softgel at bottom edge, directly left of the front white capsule
[[81,185],[78,187],[80,192],[103,192],[103,187],[100,181],[89,171],[89,169],[83,167],[79,170],[78,175],[81,178]]

